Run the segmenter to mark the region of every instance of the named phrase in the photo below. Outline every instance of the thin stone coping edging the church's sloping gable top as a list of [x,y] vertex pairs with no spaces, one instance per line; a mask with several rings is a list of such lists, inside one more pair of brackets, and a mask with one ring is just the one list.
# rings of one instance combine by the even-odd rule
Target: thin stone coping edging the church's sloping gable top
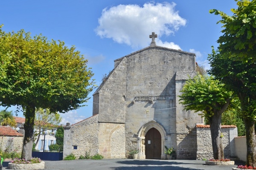
[[[130,57],[130,56],[133,55],[133,54],[139,53],[139,52],[144,51],[144,50],[149,49],[149,48],[161,48],[161,49],[165,49],[165,50],[169,50],[169,51],[176,51],[176,52],[179,52],[179,53],[185,53],[185,54],[192,54],[192,55],[195,55],[195,53],[189,53],[189,52],[186,52],[186,51],[175,50],[175,49],[172,49],[172,48],[166,48],[166,47],[161,47],[161,46],[155,46],[155,47],[150,47],[150,46],[148,46],[148,47],[146,47],[146,48],[143,48],[143,49],[141,49],[141,50],[138,50],[138,51],[135,51],[135,52],[133,52],[133,53],[131,53],[131,54],[128,54],[128,55],[126,55],[126,56],[124,56],[124,57],[121,57],[121,58],[119,58],[119,59],[115,59],[114,62],[119,61],[119,60],[120,60],[120,62],[121,62],[122,59],[124,59],[125,57]],[[120,63],[120,62],[119,62],[119,63]],[[116,67],[115,67],[115,68],[116,68]],[[108,78],[109,78],[110,75],[113,73],[113,71],[115,70],[115,68],[108,74],[108,76],[106,77],[105,81],[102,82],[101,85],[99,85],[99,87],[96,89],[96,91],[93,93],[93,95],[99,93],[100,89],[101,89],[102,86],[105,84],[105,82],[108,80]]]

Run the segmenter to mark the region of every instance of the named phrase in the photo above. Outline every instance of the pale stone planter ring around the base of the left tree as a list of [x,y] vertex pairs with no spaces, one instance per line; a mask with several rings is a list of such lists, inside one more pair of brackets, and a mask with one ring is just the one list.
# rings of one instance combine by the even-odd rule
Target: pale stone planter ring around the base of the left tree
[[8,169],[12,170],[40,170],[44,169],[44,161],[37,164],[8,164]]

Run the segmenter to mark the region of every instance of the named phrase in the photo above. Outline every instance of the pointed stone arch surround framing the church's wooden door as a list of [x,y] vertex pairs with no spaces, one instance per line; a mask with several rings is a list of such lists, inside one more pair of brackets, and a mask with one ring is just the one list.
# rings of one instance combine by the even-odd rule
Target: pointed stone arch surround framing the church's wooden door
[[166,130],[163,127],[163,125],[161,125],[159,122],[152,120],[150,122],[145,123],[139,130],[138,132],[138,138],[139,138],[139,148],[140,148],[140,154],[139,154],[139,159],[145,159],[145,135],[147,134],[148,130],[150,130],[151,128],[155,128],[159,131],[160,135],[161,135],[161,159],[165,159],[166,156],[164,154],[164,146],[165,146],[165,142],[166,142]]

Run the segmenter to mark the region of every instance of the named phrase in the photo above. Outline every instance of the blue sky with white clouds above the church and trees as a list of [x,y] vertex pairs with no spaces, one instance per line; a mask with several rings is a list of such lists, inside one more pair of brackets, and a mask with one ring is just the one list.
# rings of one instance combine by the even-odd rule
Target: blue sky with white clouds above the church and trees
[[[237,6],[234,0],[3,0],[0,24],[6,32],[24,29],[75,45],[100,85],[115,59],[149,46],[151,32],[157,45],[193,52],[209,68],[207,56],[221,35],[221,17],[209,14],[213,8],[232,15]],[[61,123],[92,116],[93,92],[86,107],[61,114]]]

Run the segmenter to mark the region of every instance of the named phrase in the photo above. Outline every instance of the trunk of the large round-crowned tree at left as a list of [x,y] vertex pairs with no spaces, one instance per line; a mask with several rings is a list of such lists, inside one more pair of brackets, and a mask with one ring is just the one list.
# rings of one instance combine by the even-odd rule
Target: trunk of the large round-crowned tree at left
[[23,150],[21,153],[21,158],[27,161],[31,160],[32,148],[33,148],[33,132],[34,132],[34,121],[35,121],[35,105],[26,106],[25,124],[24,124],[24,140],[23,140]]

